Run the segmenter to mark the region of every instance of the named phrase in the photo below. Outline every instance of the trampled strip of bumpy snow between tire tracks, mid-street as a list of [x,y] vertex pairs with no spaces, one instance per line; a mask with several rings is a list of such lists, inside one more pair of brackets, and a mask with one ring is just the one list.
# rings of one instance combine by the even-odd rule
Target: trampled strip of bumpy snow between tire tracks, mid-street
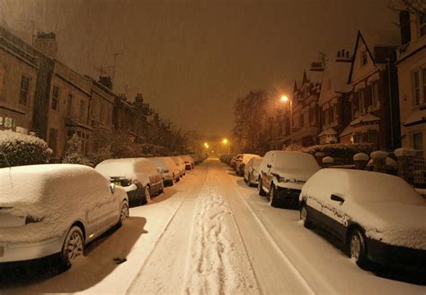
[[[207,183],[207,182],[206,182]],[[217,175],[209,174],[217,185]],[[259,293],[253,269],[229,205],[217,188],[199,197],[185,294]],[[235,231],[237,235],[235,235]]]

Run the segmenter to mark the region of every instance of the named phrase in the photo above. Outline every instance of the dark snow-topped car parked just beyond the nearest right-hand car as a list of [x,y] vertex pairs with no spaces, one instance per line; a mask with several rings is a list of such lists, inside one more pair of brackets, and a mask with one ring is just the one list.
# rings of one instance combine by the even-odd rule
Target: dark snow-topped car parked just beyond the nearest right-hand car
[[262,159],[258,190],[272,207],[297,208],[303,185],[321,167],[306,153],[271,150]]

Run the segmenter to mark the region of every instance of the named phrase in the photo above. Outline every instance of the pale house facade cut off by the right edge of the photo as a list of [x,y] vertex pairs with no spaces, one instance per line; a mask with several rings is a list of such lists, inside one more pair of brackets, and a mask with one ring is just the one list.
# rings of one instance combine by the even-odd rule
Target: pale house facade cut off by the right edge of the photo
[[426,16],[400,13],[403,45],[397,50],[401,143],[426,157]]

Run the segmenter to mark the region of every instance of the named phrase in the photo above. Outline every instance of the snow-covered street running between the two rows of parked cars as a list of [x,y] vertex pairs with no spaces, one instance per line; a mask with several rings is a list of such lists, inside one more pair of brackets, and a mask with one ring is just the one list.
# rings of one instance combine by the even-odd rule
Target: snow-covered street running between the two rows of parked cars
[[[217,159],[87,246],[65,273],[1,294],[425,294],[363,271],[297,210],[271,208]],[[126,259],[116,264],[114,259]]]

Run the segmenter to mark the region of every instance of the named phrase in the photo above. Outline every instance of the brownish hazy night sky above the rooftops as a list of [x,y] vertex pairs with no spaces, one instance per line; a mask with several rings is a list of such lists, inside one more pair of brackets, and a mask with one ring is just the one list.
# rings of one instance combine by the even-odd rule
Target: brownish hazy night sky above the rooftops
[[397,17],[386,0],[0,0],[0,23],[25,40],[29,21],[57,33],[69,67],[97,77],[120,52],[117,93],[144,94],[178,128],[228,136],[237,97],[290,92],[318,51],[352,50],[358,30]]

